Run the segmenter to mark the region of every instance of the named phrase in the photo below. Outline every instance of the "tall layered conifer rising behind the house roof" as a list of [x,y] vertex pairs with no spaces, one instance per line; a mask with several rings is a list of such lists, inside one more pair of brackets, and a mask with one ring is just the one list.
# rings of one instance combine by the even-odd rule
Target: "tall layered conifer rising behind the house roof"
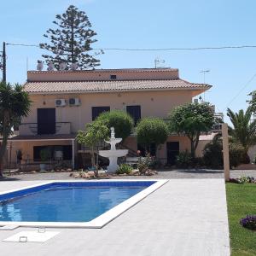
[[61,62],[66,63],[67,68],[77,63],[79,69],[94,68],[100,65],[95,58],[102,51],[90,55],[90,44],[96,43],[96,32],[91,29],[88,16],[75,6],[70,5],[62,15],[56,15],[53,23],[57,28],[44,34],[49,38],[49,44],[40,44],[40,48],[49,50],[52,55],[42,55],[47,64],[53,63],[56,68]]

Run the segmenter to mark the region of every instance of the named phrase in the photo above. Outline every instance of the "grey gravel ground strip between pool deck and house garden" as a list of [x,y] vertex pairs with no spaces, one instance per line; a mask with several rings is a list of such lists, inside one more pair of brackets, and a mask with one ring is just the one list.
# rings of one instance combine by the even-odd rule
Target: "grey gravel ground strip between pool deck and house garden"
[[[16,174],[12,176],[5,176],[2,180],[65,180],[73,179],[69,177],[71,172],[49,172],[49,173],[33,173],[33,174]],[[232,170],[230,171],[230,177],[240,177],[240,176],[253,176],[256,177],[256,170]],[[139,179],[139,178],[222,178],[224,177],[224,172],[222,170],[165,170],[159,171],[157,175],[154,176],[115,176],[113,178],[129,178],[129,179]]]

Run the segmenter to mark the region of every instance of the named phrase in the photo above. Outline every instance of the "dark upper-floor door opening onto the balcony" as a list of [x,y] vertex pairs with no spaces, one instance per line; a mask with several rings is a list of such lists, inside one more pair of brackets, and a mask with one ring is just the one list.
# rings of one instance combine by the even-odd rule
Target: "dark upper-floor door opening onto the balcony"
[[55,134],[55,108],[38,108],[38,134]]

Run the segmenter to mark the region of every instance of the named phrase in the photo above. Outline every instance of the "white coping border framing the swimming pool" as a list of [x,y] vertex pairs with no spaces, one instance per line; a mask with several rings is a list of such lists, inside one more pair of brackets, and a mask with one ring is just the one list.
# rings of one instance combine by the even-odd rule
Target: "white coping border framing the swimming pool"
[[[50,183],[97,183],[97,182],[137,182],[138,180],[131,179],[101,179],[101,180],[50,180],[44,183],[38,183],[36,185],[20,187],[20,189],[11,189],[7,191],[3,191],[0,195],[4,195],[7,193],[12,193],[16,191],[20,191],[22,189],[32,189],[38,186],[50,184]],[[138,202],[142,201],[148,195],[152,194],[155,190],[160,189],[165,183],[167,183],[168,179],[141,179],[140,182],[155,182],[152,185],[148,186],[148,188],[143,189],[141,192],[136,195],[131,196],[127,200],[121,202],[119,205],[109,209],[107,212],[102,213],[102,215],[90,220],[89,222],[22,222],[22,221],[0,221],[0,226],[6,225],[16,225],[19,227],[44,227],[44,228],[85,228],[85,229],[101,229],[106,224],[110,223],[114,218],[118,218],[122,213],[129,210],[131,207],[134,207]]]

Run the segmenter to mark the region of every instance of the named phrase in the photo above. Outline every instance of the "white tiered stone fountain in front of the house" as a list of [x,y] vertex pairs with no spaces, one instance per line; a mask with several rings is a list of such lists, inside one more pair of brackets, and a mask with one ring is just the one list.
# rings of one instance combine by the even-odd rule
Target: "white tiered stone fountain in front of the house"
[[110,140],[105,143],[108,143],[111,145],[110,150],[99,150],[99,155],[103,157],[107,157],[109,159],[109,166],[108,166],[108,172],[115,172],[119,165],[117,164],[118,157],[125,156],[128,154],[128,149],[116,149],[115,144],[120,143],[122,141],[122,138],[120,137],[114,137],[114,128],[111,127],[111,137]]

